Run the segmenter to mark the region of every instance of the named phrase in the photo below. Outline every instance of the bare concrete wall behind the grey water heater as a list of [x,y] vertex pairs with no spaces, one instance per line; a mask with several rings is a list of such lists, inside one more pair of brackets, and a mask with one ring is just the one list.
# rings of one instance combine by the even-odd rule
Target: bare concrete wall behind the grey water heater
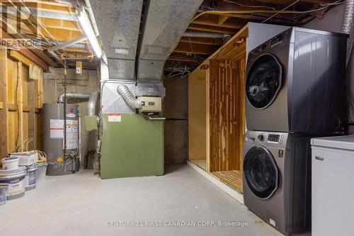
[[[64,92],[64,69],[50,67],[50,72],[44,74],[44,101],[45,103],[57,102],[59,94]],[[76,74],[75,69],[67,69],[67,92],[90,94],[100,90],[100,79],[96,70],[83,69],[82,74]],[[79,103],[81,118],[87,116],[88,100],[68,99],[69,103]],[[97,104],[96,112],[100,110]],[[86,157],[87,152],[96,151],[97,135],[95,131],[85,130],[84,119],[81,120],[81,158]],[[81,167],[84,161],[81,159]]]

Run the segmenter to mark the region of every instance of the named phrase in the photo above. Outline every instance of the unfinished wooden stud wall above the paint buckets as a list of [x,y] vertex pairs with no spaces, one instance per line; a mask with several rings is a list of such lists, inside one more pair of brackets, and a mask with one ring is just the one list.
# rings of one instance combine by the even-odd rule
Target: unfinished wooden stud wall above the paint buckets
[[42,68],[16,51],[1,49],[0,71],[0,157],[42,150]]

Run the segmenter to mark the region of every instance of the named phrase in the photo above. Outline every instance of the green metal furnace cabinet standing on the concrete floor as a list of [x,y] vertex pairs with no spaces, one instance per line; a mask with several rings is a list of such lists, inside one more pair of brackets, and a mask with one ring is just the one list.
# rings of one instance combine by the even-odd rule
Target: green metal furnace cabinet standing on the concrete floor
[[164,174],[164,121],[103,114],[101,178]]

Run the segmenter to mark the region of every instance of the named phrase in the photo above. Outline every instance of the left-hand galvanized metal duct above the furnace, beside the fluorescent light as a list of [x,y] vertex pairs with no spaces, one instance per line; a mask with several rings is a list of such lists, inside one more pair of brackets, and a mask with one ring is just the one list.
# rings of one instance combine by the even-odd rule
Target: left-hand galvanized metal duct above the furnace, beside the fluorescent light
[[91,1],[91,8],[107,57],[110,79],[135,80],[142,0]]

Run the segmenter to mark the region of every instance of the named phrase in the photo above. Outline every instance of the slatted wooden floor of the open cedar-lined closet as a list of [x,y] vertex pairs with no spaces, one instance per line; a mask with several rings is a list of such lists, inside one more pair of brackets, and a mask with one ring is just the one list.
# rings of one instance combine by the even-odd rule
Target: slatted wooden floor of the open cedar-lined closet
[[219,181],[222,181],[224,184],[232,187],[232,189],[243,193],[242,171],[233,170],[226,172],[210,172],[210,174],[216,179],[219,179]]

